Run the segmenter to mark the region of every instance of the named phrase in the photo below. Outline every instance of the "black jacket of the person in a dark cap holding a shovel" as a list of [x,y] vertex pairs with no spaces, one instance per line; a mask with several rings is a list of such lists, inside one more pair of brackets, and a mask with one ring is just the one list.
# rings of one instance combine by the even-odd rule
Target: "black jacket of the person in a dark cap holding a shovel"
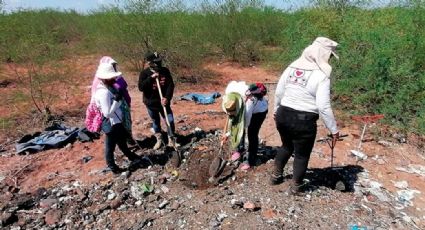
[[[174,93],[174,81],[170,70],[166,67],[159,68],[159,84],[161,85],[162,96],[171,102]],[[150,68],[144,69],[139,75],[139,90],[143,92],[143,103],[150,108],[161,108],[161,98],[159,96],[156,80],[151,77],[153,72]],[[169,105],[169,104],[168,104]]]

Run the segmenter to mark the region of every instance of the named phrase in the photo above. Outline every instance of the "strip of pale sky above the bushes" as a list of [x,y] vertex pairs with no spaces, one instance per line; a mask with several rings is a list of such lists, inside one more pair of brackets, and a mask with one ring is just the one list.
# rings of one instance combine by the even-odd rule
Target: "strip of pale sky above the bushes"
[[[54,9],[74,9],[78,12],[88,12],[95,10],[104,4],[114,4],[117,2],[123,2],[122,0],[4,0],[4,10],[7,12],[19,9],[19,8],[31,8],[31,9],[42,9],[42,8],[54,8]],[[194,0],[187,0],[187,2],[197,2]],[[300,5],[306,0],[299,1],[287,1],[287,0],[265,0],[267,5],[274,6],[280,9],[287,9],[293,5]]]

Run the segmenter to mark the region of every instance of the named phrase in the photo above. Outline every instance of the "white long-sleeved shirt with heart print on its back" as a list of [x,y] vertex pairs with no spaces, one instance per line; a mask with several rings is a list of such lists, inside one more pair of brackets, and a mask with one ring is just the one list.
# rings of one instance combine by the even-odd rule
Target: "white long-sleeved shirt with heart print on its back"
[[320,69],[286,68],[276,86],[274,112],[280,105],[317,113],[332,134],[338,132],[330,103],[330,79]]

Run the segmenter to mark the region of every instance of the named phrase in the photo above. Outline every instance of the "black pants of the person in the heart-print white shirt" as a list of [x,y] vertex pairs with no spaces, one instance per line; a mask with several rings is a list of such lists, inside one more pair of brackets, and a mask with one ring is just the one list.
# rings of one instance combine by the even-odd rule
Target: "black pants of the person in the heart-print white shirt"
[[297,111],[289,107],[280,106],[276,113],[276,127],[282,140],[282,147],[278,149],[275,158],[276,176],[283,174],[283,168],[292,154],[294,157],[293,180],[301,184],[311,150],[316,138],[318,114]]

